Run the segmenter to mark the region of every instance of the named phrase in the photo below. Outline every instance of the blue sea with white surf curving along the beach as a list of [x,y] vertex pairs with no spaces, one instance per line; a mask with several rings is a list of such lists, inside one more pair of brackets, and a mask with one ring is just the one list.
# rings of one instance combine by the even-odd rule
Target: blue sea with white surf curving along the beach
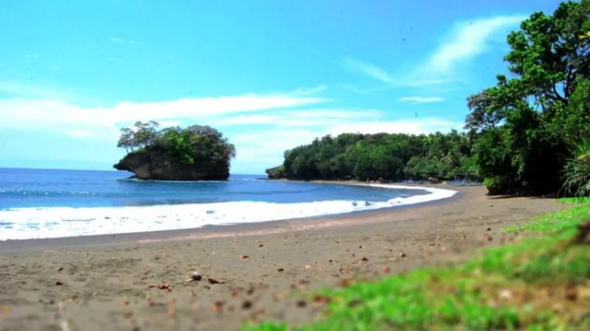
[[123,171],[0,168],[0,240],[192,229],[351,213],[455,192],[261,180],[138,181]]

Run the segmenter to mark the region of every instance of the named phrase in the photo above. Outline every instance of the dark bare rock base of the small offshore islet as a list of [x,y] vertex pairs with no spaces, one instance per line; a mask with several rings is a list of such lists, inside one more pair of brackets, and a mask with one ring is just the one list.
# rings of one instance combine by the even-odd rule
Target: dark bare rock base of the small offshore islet
[[225,165],[209,165],[198,161],[194,164],[181,163],[161,148],[129,153],[113,167],[130,171],[135,174],[135,178],[142,180],[227,180],[230,177],[230,171]]

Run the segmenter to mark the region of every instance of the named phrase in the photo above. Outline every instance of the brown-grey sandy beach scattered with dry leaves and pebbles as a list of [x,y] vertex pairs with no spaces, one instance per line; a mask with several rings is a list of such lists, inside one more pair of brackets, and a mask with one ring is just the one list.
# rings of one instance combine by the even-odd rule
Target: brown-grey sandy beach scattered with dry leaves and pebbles
[[[444,203],[323,219],[0,242],[0,330],[306,323],[322,310],[301,301],[309,290],[375,278],[384,266],[395,273],[464,259],[476,247],[503,241],[504,225],[566,207],[544,198],[490,198],[483,187],[436,187],[461,194]],[[204,279],[186,282],[194,271]],[[225,283],[209,284],[208,276]],[[172,290],[149,288],[162,283]],[[289,296],[293,289],[300,294]]]

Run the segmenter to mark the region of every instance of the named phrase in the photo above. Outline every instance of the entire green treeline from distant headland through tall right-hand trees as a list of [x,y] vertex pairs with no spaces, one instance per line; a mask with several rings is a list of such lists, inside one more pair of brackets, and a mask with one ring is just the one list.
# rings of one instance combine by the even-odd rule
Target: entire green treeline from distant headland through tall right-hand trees
[[467,98],[464,133],[342,134],[287,151],[269,177],[483,179],[490,194],[590,194],[590,0],[507,37],[509,75]]

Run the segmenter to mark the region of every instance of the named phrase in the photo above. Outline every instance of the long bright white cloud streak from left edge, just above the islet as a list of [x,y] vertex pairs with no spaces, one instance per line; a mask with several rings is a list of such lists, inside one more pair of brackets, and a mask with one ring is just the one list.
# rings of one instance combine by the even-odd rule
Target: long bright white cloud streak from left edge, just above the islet
[[[169,124],[178,124],[179,120],[202,122],[214,116],[300,107],[328,101],[326,98],[312,96],[244,94],[162,102],[120,102],[113,107],[89,108],[65,101],[50,100],[53,95],[44,90],[0,84],[0,91],[2,87],[11,92],[24,93],[16,93],[21,98],[0,99],[0,127],[36,127],[39,130],[60,132],[84,130],[101,133],[137,120],[156,120],[164,123],[168,121]],[[41,99],[22,98],[23,94],[36,94]]]

